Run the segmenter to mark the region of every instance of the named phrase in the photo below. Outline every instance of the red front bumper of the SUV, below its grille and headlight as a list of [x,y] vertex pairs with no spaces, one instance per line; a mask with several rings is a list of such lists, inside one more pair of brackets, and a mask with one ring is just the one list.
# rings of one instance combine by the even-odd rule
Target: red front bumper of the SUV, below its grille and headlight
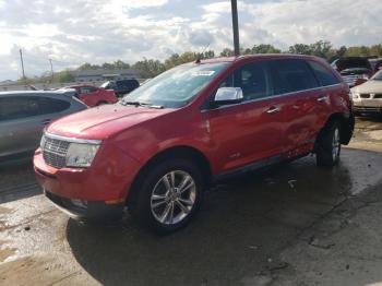
[[89,168],[58,169],[47,165],[37,150],[34,170],[47,198],[81,217],[108,216],[109,211],[123,208],[140,164],[114,146],[98,152]]

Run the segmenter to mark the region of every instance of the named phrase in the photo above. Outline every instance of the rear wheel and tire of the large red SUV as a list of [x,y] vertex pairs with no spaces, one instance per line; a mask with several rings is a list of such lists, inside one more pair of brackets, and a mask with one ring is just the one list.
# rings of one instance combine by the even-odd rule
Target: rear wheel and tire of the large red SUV
[[338,164],[341,155],[341,126],[338,121],[330,123],[317,142],[315,158],[318,166],[333,167]]

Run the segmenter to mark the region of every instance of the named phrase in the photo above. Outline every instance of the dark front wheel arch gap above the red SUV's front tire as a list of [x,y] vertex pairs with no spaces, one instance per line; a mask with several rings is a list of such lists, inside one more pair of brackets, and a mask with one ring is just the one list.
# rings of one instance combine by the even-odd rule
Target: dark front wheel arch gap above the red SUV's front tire
[[140,182],[146,177],[151,168],[153,168],[156,164],[170,158],[184,158],[193,160],[201,169],[202,176],[205,179],[205,184],[208,186],[211,183],[212,168],[207,157],[195,147],[187,145],[174,146],[157,153],[138,171],[131,184],[130,192],[127,198],[127,204],[134,203],[136,194],[140,191]]

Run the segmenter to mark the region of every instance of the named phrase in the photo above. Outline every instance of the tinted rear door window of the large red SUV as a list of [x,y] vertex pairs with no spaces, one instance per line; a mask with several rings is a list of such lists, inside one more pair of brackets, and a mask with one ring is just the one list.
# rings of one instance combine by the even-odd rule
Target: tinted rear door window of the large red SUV
[[276,95],[319,86],[313,72],[303,60],[275,60],[272,61],[271,65]]

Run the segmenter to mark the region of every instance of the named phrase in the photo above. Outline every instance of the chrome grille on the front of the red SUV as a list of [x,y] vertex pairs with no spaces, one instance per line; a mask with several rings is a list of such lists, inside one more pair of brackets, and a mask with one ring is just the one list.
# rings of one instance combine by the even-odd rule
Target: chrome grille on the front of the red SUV
[[69,145],[70,142],[68,141],[51,139],[44,135],[41,140],[41,151],[45,163],[58,169],[64,167]]

